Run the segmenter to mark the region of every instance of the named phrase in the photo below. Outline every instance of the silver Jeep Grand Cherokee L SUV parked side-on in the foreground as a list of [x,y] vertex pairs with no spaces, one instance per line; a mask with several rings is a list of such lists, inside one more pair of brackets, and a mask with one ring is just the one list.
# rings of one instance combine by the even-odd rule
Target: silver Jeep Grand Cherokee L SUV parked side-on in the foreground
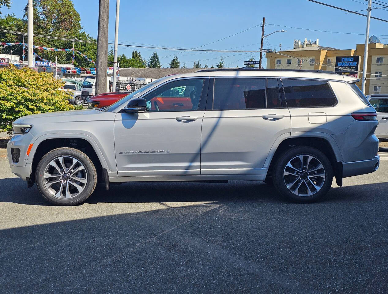
[[[376,171],[376,111],[348,76],[202,70],[166,76],[105,109],[14,121],[12,172],[59,205],[97,182],[252,180],[296,202]],[[259,194],[259,192],[258,192]]]

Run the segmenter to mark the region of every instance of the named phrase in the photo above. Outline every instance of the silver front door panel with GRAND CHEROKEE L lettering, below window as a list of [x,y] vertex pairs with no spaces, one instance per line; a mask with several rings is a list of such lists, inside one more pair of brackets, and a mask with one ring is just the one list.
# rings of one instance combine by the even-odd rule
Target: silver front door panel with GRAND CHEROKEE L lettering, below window
[[[204,111],[117,113],[118,176],[199,175],[203,115]],[[177,120],[183,116],[192,120]]]

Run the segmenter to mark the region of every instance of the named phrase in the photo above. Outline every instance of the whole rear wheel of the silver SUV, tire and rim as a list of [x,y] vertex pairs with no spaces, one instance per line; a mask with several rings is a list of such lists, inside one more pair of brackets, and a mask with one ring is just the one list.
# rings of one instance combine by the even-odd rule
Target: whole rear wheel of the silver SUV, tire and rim
[[313,147],[298,146],[284,151],[274,165],[276,189],[294,202],[315,202],[325,196],[333,182],[329,159]]

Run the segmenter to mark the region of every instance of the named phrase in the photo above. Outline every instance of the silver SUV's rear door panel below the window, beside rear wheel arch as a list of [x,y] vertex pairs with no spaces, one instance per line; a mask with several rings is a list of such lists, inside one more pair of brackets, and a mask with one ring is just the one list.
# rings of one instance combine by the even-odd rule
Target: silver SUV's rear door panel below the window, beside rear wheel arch
[[[263,116],[275,114],[281,119]],[[201,136],[201,175],[262,175],[275,140],[290,134],[288,109],[206,111]]]

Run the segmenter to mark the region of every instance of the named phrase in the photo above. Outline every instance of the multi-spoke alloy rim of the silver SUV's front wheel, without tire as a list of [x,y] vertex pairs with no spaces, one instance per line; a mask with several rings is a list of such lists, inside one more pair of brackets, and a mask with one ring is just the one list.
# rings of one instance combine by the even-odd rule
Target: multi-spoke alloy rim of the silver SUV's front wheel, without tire
[[47,164],[43,183],[50,194],[58,198],[72,198],[80,194],[87,184],[85,166],[71,156],[60,156]]

